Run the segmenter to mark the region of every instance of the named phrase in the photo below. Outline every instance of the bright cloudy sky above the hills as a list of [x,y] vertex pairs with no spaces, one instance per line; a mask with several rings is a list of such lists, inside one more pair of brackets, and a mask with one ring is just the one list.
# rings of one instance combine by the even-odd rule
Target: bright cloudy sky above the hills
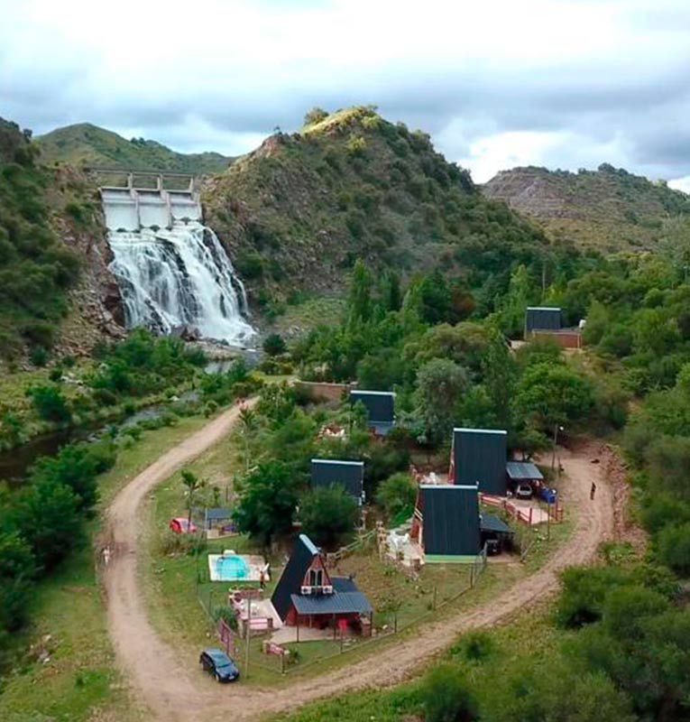
[[373,103],[488,180],[612,162],[690,190],[690,0],[0,0],[0,116],[251,150]]

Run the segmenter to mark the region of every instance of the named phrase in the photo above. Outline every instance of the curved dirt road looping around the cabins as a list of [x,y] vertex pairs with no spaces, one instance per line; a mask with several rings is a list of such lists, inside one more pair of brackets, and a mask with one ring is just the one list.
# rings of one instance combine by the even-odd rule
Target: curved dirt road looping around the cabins
[[[603,477],[602,465],[592,463],[601,447],[592,444],[576,453],[565,451],[561,455],[567,476],[564,498],[566,508],[576,514],[573,535],[542,569],[520,579],[490,605],[464,609],[455,616],[445,616],[442,622],[426,625],[423,634],[383,647],[375,653],[375,663],[368,657],[312,680],[296,680],[279,690],[220,687],[198,673],[196,660],[179,659],[153,631],[138,589],[136,542],[144,496],[180,465],[222,438],[237,413],[236,409],[225,412],[170,449],[117,495],[108,513],[115,544],[115,554],[104,572],[110,634],[135,695],[150,708],[155,719],[209,722],[227,719],[228,715],[251,719],[345,690],[391,685],[416,671],[429,656],[441,652],[456,634],[505,622],[539,597],[553,593],[557,589],[557,571],[591,560],[599,543],[612,534],[612,488]],[[598,487],[593,502],[589,498],[592,481]]]

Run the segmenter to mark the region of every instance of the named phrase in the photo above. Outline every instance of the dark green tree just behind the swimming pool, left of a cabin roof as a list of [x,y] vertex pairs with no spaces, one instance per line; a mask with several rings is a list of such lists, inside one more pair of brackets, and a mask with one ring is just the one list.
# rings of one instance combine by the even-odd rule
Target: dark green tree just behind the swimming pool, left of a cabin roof
[[269,461],[244,479],[233,517],[240,532],[268,548],[276,536],[292,529],[297,502],[290,468],[281,461]]

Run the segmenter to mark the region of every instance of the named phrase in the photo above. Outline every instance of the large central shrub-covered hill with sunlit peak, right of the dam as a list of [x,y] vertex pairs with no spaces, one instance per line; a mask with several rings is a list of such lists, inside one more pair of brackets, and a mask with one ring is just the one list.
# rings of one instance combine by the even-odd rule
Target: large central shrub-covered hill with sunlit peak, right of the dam
[[440,268],[499,292],[512,265],[536,267],[547,252],[538,228],[485,199],[428,135],[371,107],[309,116],[203,188],[207,223],[260,301],[342,288],[357,257],[403,274]]

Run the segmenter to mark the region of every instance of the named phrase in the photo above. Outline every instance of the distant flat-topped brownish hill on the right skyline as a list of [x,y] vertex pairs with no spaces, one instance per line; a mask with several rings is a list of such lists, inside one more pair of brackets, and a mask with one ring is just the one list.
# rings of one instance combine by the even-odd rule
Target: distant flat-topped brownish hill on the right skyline
[[489,199],[538,221],[547,235],[603,252],[649,248],[665,218],[690,212],[690,197],[664,183],[603,163],[596,171],[501,171],[483,187]]

